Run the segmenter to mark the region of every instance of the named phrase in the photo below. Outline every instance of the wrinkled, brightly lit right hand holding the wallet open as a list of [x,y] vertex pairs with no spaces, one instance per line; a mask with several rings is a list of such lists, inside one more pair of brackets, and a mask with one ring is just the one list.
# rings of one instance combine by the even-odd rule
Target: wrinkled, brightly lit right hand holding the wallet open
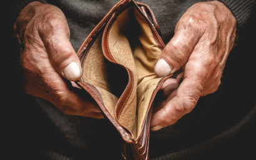
[[182,80],[174,93],[169,91],[171,99],[155,111],[152,130],[173,125],[193,110],[200,96],[217,90],[235,32],[236,19],[222,2],[199,2],[187,9],[155,65],[159,77],[182,68]]

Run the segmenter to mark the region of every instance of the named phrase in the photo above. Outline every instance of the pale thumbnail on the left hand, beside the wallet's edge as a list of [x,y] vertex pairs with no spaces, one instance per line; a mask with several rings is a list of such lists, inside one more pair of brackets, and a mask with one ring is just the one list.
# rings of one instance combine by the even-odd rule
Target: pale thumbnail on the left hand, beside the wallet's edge
[[68,80],[76,80],[81,75],[81,69],[76,62],[71,62],[64,68],[63,73]]

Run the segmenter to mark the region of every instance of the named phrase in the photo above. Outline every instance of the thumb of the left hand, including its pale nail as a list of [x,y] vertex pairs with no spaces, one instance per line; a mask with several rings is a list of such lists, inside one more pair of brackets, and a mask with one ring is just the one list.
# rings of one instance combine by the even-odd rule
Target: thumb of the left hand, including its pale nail
[[49,59],[57,72],[67,80],[81,77],[81,63],[69,41],[69,27],[64,16],[47,20],[39,34],[46,46]]

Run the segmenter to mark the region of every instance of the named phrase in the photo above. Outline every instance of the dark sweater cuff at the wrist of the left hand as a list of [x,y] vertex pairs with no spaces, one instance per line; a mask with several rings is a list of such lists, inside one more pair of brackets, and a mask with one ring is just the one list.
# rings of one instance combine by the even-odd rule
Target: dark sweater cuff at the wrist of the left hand
[[[21,10],[30,2],[34,2],[35,0],[19,0],[19,1],[15,1],[14,5],[12,7],[12,22],[14,23],[17,19],[17,16],[19,16],[19,12],[21,12]],[[36,0],[39,2],[43,2],[43,3],[47,3],[44,0]]]

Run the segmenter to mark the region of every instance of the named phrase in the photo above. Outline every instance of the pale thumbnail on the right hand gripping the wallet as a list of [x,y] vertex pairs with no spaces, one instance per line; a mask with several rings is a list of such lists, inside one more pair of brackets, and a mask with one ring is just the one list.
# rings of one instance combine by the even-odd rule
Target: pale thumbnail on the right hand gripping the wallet
[[155,73],[158,77],[165,77],[172,72],[170,65],[164,60],[159,59],[157,64],[155,64]]

